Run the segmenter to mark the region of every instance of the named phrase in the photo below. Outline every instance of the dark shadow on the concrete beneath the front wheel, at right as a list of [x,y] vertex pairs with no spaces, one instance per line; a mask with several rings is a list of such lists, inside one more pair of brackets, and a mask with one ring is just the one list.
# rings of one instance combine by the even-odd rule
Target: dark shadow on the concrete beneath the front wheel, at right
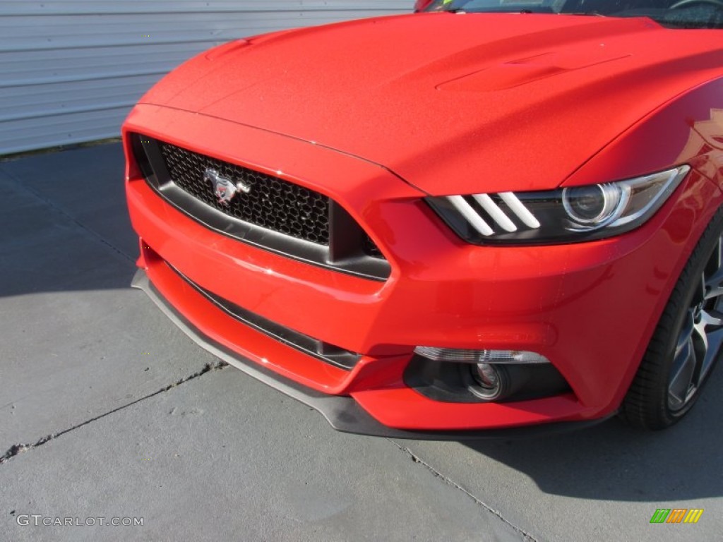
[[613,418],[540,439],[463,442],[529,476],[548,494],[630,502],[723,495],[723,371],[696,408],[665,431],[638,431]]

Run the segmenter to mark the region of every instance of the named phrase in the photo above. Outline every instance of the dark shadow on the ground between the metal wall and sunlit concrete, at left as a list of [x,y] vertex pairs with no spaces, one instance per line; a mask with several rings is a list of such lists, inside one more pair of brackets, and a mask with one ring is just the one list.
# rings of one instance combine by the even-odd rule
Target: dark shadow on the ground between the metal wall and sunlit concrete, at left
[[0,296],[128,288],[123,178],[119,143],[0,162]]

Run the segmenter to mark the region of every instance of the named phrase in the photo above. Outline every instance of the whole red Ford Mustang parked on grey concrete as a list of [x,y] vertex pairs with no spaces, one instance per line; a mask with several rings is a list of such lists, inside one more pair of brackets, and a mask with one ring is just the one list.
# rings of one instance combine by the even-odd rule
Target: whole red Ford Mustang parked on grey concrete
[[723,343],[723,2],[236,40],[124,124],[134,285],[337,429],[670,426]]

